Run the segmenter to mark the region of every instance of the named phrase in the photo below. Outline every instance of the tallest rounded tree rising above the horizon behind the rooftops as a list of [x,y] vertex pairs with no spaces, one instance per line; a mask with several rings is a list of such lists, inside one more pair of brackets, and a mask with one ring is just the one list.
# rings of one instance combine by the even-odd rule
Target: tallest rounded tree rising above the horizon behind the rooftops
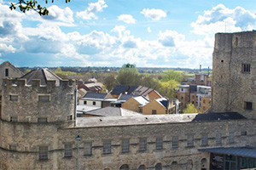
[[139,80],[139,72],[135,65],[125,64],[118,71],[117,81],[121,85],[138,85]]

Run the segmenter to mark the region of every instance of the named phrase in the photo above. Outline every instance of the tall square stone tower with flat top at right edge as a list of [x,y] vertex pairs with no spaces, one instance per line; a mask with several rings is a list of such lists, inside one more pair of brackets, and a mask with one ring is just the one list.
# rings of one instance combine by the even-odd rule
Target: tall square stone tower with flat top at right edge
[[255,118],[256,31],[216,34],[212,70],[213,111]]

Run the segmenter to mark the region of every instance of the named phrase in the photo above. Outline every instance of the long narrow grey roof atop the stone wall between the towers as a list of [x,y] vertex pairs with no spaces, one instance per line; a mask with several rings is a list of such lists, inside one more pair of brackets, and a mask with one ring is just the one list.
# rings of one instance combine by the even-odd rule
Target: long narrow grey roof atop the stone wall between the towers
[[[104,108],[102,108],[104,109]],[[122,108],[118,108],[124,110]],[[98,111],[99,114],[102,111]],[[132,111],[133,112],[133,111]],[[111,113],[110,113],[111,114]],[[113,114],[113,113],[112,113]],[[134,116],[104,116],[104,117],[78,117],[77,127],[109,127],[109,126],[127,126],[127,125],[146,125],[146,124],[163,124],[163,123],[181,123],[181,122],[213,122],[221,120],[236,120],[236,117],[229,116],[230,119],[205,119],[201,115],[209,117],[212,113],[200,114],[173,114],[173,115],[134,115]],[[234,113],[225,113],[232,115]],[[243,118],[242,118],[243,119]],[[100,123],[99,123],[100,122]]]

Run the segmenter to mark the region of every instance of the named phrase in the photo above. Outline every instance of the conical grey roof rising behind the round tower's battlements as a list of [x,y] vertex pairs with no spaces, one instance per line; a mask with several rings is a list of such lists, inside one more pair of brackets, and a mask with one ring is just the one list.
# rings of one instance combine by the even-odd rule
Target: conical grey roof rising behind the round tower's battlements
[[58,77],[53,73],[52,71],[49,71],[48,69],[40,68],[32,70],[23,77],[20,77],[23,79],[26,79],[26,84],[32,84],[32,80],[39,79],[41,80],[41,85],[46,85],[47,81],[55,80],[56,85],[60,85],[61,77]]

